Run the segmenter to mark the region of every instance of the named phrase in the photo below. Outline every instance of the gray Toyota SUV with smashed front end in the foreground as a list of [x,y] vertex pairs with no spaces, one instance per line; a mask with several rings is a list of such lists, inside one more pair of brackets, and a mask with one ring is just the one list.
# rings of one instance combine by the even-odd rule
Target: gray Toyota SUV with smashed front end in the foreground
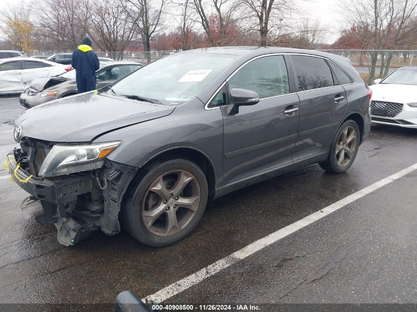
[[185,51],[25,111],[21,147],[4,164],[60,243],[114,235],[121,223],[165,246],[196,227],[210,199],[309,164],[348,170],[369,134],[370,98],[337,55]]

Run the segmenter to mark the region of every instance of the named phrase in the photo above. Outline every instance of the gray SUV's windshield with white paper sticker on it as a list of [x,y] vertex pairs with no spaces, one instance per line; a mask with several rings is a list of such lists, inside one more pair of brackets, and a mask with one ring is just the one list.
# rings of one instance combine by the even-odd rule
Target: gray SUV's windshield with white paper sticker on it
[[235,58],[225,54],[172,54],[117,81],[112,90],[166,105],[182,104],[200,93]]

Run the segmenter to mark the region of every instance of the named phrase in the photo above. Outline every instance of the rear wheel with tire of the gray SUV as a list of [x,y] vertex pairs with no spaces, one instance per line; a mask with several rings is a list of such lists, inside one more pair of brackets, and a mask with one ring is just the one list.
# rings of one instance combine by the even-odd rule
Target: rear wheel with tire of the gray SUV
[[353,120],[344,122],[330,145],[330,151],[320,167],[332,173],[344,173],[356,158],[360,143],[358,124]]

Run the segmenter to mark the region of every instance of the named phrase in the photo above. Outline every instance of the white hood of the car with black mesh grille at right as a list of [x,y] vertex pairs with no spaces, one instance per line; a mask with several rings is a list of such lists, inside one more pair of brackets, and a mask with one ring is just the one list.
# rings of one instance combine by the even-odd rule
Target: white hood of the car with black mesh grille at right
[[394,103],[415,103],[417,102],[417,86],[407,84],[378,83],[370,86],[372,89],[371,100],[394,102]]

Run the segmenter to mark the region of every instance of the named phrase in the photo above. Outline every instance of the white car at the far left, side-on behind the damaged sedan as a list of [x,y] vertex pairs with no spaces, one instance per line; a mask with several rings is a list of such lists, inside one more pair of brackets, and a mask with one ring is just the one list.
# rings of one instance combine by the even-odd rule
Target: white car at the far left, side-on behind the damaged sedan
[[0,94],[21,93],[35,78],[46,78],[63,73],[68,65],[33,58],[0,60]]

